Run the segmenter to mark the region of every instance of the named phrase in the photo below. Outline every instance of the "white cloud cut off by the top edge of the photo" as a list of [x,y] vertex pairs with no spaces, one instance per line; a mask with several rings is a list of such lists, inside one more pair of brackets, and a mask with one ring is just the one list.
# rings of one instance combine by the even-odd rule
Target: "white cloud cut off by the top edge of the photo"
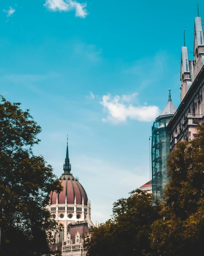
[[52,11],[71,11],[75,10],[75,16],[86,18],[88,15],[86,3],[78,3],[74,0],[46,0],[44,6]]

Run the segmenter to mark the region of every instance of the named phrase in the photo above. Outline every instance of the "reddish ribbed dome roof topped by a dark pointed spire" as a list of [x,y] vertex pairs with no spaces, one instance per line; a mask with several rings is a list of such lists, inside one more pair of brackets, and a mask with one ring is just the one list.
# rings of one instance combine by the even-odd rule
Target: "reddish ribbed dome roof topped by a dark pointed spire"
[[64,173],[60,177],[60,182],[63,186],[63,191],[60,193],[52,192],[50,195],[51,204],[56,204],[58,201],[58,204],[65,204],[66,197],[67,197],[67,204],[74,204],[75,198],[76,198],[76,204],[82,204],[83,203],[87,205],[87,194],[85,189],[82,187],[82,185],[78,182],[76,178],[72,176],[70,173],[71,171],[71,164],[70,159],[68,155],[68,142],[67,142],[67,152],[66,152],[66,158],[65,158],[65,164],[63,165]]

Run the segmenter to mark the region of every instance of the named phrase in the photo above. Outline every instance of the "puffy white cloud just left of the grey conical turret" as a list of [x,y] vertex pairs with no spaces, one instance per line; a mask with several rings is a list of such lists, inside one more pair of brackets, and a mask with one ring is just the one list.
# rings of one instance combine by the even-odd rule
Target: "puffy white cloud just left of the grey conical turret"
[[106,119],[102,120],[118,123],[126,122],[129,117],[138,121],[153,121],[159,115],[159,108],[157,106],[134,106],[128,103],[128,100],[136,95],[123,95],[122,97],[118,95],[112,97],[110,93],[103,95],[100,103],[108,115]]

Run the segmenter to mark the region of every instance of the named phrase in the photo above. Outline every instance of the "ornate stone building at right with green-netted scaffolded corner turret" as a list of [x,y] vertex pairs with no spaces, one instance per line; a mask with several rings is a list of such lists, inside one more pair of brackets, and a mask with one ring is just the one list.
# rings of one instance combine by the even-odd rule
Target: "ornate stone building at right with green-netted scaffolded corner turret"
[[[176,109],[170,91],[167,105],[152,126],[152,192],[162,200],[168,181],[166,160],[179,141],[195,139],[197,126],[203,124],[204,112],[204,34],[202,19],[195,18],[194,59],[189,60],[188,48],[181,48],[180,105]],[[170,101],[170,103],[169,103]]]

